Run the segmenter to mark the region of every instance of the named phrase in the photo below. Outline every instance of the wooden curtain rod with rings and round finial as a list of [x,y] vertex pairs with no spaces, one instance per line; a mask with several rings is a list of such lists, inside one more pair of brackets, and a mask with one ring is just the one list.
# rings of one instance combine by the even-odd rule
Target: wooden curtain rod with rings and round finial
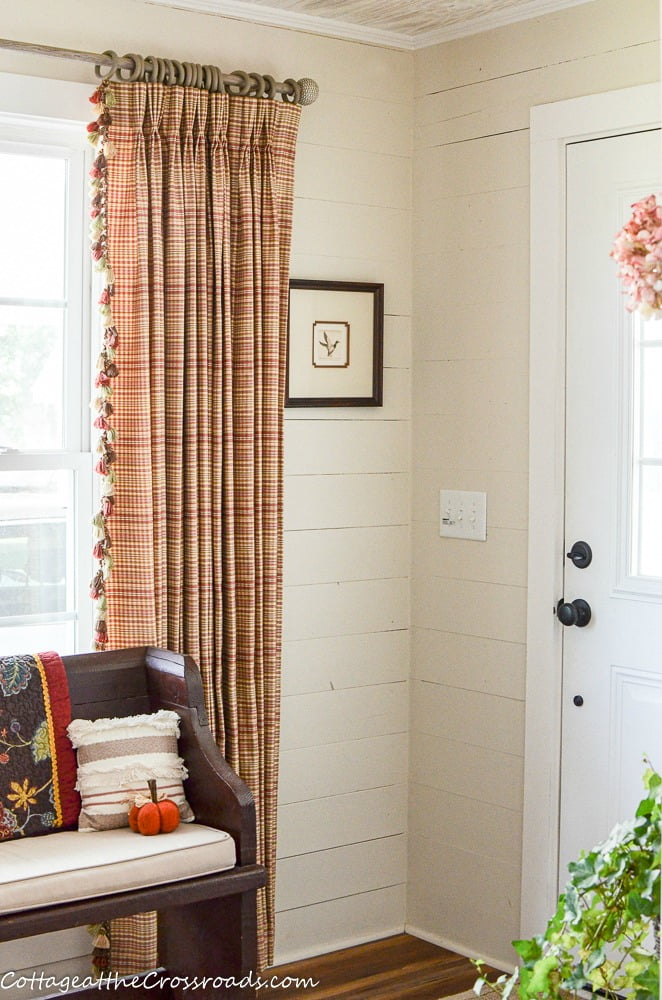
[[[241,97],[276,97],[280,94],[283,101],[302,105],[313,104],[319,95],[317,83],[307,77],[278,83],[266,73],[264,75],[245,73],[243,70],[222,73],[217,66],[201,66],[198,63],[179,62],[176,59],[139,56],[133,52],[118,56],[111,49],[103,53],[80,52],[77,49],[60,49],[53,45],[15,42],[10,38],[0,38],[0,49],[93,63],[95,74],[100,80],[109,80],[115,75],[118,80],[179,84]],[[102,72],[102,68],[105,68],[106,72]]]

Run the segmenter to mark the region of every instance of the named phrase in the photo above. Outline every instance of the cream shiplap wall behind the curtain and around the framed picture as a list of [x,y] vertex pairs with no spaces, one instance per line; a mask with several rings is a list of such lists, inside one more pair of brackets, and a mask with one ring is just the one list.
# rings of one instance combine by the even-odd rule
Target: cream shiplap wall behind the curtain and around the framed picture
[[[385,402],[286,414],[277,959],[401,931],[413,56],[137,0],[22,0],[2,22],[8,38],[319,82],[302,114],[292,275],[384,282]],[[0,70],[93,80],[6,52]]]

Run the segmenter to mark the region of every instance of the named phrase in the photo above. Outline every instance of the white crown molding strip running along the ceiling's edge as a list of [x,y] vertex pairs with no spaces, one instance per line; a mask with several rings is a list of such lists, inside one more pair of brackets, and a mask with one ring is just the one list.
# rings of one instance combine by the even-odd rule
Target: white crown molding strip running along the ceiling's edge
[[174,7],[202,14],[216,14],[220,17],[266,24],[271,27],[305,31],[310,34],[327,35],[353,42],[363,42],[368,45],[380,45],[413,52],[456,38],[475,35],[481,31],[490,31],[494,28],[514,24],[517,21],[526,21],[532,17],[553,14],[568,7],[577,7],[580,4],[589,3],[590,0],[523,0],[517,7],[476,14],[464,18],[456,24],[419,35],[406,35],[397,31],[370,28],[366,25],[352,24],[349,21],[339,21],[335,18],[301,14],[285,8],[266,7],[262,4],[251,3],[250,0],[246,0],[246,2],[244,0],[143,0],[143,2],[159,7]]

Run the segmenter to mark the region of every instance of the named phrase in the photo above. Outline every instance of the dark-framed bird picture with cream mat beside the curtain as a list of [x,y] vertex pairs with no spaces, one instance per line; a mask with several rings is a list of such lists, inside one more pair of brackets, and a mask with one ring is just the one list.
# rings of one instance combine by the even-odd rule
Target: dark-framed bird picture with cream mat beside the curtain
[[384,286],[290,281],[286,406],[381,406]]

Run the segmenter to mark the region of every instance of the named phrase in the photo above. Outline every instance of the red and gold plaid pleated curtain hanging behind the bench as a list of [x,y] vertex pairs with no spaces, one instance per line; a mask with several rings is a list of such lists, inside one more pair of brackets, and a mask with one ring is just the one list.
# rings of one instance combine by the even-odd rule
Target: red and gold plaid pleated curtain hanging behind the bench
[[[269,871],[258,900],[265,965],[300,108],[155,83],[113,83],[102,103],[112,268],[102,302],[112,311],[108,422],[117,435],[107,642],[165,646],[200,666],[218,744],[255,798],[258,860]],[[149,934],[138,939],[132,950],[144,940],[148,951]]]

